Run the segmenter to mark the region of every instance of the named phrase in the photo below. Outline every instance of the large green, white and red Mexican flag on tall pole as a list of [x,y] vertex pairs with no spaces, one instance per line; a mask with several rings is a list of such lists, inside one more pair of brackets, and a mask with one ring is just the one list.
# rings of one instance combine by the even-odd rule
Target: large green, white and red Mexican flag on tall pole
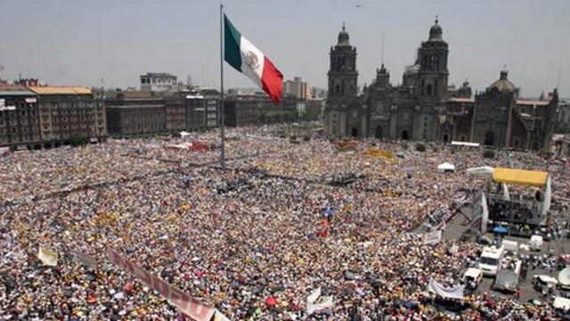
[[224,61],[263,88],[275,104],[281,102],[283,75],[264,53],[259,51],[224,14]]

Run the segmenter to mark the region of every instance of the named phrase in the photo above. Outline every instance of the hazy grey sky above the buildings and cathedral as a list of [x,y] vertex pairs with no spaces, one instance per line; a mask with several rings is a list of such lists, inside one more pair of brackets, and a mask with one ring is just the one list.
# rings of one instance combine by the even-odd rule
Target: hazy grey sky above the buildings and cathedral
[[[361,7],[357,7],[360,4]],[[474,90],[503,64],[525,96],[557,86],[570,95],[570,1],[241,0],[224,2],[233,24],[285,75],[325,87],[330,45],[346,21],[357,47],[359,85],[385,64],[393,84],[427,40],[436,14],[450,48],[450,84]],[[219,86],[219,2],[197,0],[0,0],[2,78],[52,85],[139,86],[166,71]],[[225,86],[253,86],[225,65]],[[559,75],[561,75],[559,77]]]

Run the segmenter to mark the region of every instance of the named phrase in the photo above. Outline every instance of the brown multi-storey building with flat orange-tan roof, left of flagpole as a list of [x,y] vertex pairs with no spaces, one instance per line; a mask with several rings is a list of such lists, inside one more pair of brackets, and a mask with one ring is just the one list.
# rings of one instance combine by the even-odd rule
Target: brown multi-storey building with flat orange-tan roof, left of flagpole
[[107,136],[105,106],[83,86],[30,86],[37,95],[39,127],[45,147],[66,144],[70,137],[93,140]]

